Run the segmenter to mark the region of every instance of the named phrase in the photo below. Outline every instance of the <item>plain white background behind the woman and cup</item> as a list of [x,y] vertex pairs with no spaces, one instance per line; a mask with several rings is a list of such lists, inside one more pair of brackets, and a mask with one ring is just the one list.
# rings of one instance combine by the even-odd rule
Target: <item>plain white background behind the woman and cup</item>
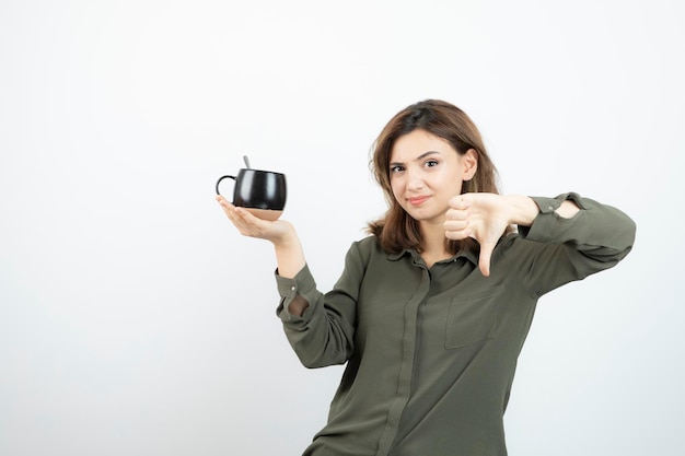
[[638,224],[541,301],[510,454],[682,454],[684,22],[678,0],[3,1],[0,454],[301,454],[341,367],[299,364],[271,247],[214,182],[243,154],[286,173],[327,290],[385,208],[373,139],[428,97],[474,118],[504,192]]

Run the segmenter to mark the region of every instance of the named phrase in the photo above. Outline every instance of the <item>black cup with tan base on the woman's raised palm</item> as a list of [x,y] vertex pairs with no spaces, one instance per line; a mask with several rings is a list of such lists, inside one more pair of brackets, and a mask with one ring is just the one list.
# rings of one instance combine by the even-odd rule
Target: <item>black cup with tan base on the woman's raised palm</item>
[[237,176],[221,176],[217,180],[217,195],[221,195],[219,184],[229,178],[235,180],[233,204],[246,208],[256,217],[276,220],[286,207],[286,175],[272,171],[242,168]]

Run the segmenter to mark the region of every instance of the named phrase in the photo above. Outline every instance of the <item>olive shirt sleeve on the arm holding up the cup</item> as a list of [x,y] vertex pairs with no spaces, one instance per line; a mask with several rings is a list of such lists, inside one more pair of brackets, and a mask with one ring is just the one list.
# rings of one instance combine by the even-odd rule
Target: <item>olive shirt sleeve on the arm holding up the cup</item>
[[[283,324],[288,341],[305,366],[342,364],[351,355],[357,299],[363,272],[364,265],[356,243],[347,253],[340,279],[326,294],[317,290],[309,266],[294,279],[276,273],[281,296],[276,313]],[[288,312],[289,304],[298,294],[309,303],[302,316]]]

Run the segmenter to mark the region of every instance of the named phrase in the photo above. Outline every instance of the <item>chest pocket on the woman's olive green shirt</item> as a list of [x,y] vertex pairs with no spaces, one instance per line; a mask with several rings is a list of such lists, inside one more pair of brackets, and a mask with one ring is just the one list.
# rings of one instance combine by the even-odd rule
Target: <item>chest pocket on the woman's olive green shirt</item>
[[500,288],[454,297],[448,311],[445,349],[457,349],[491,339],[501,296]]

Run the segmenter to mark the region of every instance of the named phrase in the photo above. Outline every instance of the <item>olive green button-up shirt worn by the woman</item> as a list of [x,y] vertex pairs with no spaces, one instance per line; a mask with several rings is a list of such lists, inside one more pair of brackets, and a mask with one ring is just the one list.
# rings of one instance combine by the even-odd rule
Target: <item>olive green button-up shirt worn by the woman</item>
[[[384,252],[375,236],[353,243],[334,289],[307,267],[276,276],[278,315],[307,367],[347,363],[328,423],[304,455],[502,456],[503,413],[537,300],[615,266],[635,224],[576,194],[533,198],[530,227],[503,237],[490,277],[464,252],[430,269],[414,250]],[[562,219],[565,199],[581,211]],[[302,295],[302,317],[288,305]]]

